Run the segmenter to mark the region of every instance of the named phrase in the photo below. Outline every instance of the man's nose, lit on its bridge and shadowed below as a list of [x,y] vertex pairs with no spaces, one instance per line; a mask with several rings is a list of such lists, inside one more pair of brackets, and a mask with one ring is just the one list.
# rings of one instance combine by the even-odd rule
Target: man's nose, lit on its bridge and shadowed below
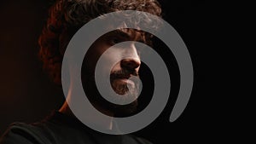
[[129,51],[126,51],[126,54],[129,53],[131,56],[120,61],[122,68],[127,68],[129,70],[135,70],[137,67],[141,66],[141,60],[137,55],[137,49],[132,45]]

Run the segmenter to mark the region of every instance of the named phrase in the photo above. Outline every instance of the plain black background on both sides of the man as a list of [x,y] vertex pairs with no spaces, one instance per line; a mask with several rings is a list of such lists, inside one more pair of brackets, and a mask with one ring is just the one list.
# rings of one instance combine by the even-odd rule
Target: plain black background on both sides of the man
[[[247,141],[241,138],[246,126],[240,126],[240,119],[246,114],[242,117],[232,107],[237,100],[234,90],[240,95],[237,87],[230,86],[237,79],[229,71],[237,66],[237,59],[231,60],[236,49],[229,45],[231,41],[236,43],[236,39],[230,40],[233,25],[227,22],[233,17],[239,20],[237,14],[230,12],[234,8],[203,0],[160,0],[160,3],[164,18],[189,49],[195,71],[194,89],[188,106],[175,122],[168,121],[176,100],[174,96],[160,117],[136,135],[154,143]],[[38,60],[38,36],[48,8],[47,0],[1,2],[0,134],[15,121],[32,123],[44,118],[64,101],[61,89],[56,89]]]

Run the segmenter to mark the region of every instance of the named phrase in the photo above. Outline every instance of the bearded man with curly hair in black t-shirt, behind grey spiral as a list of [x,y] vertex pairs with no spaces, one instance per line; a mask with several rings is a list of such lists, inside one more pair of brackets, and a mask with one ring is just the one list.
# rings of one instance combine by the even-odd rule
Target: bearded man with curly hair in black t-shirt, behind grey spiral
[[[56,84],[61,84],[61,62],[73,35],[88,21],[102,14],[120,10],[137,10],[160,16],[160,4],[155,0],[57,0],[49,9],[49,18],[39,37],[40,56],[44,62],[44,69],[49,72]],[[90,34],[90,33],[88,33]],[[137,110],[137,101],[120,106],[106,101],[96,89],[94,72],[96,63],[101,55],[110,47],[125,41],[137,41],[150,45],[151,35],[135,29],[118,29],[99,37],[84,57],[82,67],[82,83],[85,93],[96,109],[111,117],[126,117]],[[119,60],[121,56],[128,58]],[[132,81],[137,77],[141,66],[139,51],[135,43],[129,43],[125,49],[113,49],[103,57],[105,61],[119,60],[111,69],[110,82],[112,89],[120,99],[137,97],[139,84]],[[102,73],[108,73],[101,67]],[[75,72],[70,69],[69,73]],[[72,81],[72,78],[71,78]],[[73,98],[73,86],[70,85],[67,101]],[[126,95],[128,94],[128,95]],[[122,95],[126,95],[122,96]],[[82,124],[74,115],[68,102],[65,102],[58,112],[52,113],[48,118],[35,124],[15,123],[9,127],[1,138],[0,143],[26,143],[26,144],[51,144],[51,143],[119,143],[137,144],[150,143],[142,138],[132,135],[108,135],[91,130]],[[84,113],[86,121],[106,130],[115,127],[111,118],[102,120],[94,113]]]

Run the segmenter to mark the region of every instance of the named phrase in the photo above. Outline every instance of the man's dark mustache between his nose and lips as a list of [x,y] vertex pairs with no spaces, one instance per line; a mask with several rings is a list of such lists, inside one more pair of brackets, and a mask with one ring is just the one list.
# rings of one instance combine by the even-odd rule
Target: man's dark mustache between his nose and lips
[[135,70],[127,70],[122,69],[119,71],[114,71],[110,74],[110,79],[117,79],[117,78],[130,78],[131,76],[138,76],[138,72]]

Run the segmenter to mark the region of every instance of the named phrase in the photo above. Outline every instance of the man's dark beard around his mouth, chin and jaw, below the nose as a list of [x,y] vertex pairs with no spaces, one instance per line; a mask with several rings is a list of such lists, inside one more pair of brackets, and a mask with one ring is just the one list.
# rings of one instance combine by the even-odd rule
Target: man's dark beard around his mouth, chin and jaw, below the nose
[[[127,101],[127,99],[133,99],[129,104],[118,105],[107,101],[100,95],[96,88],[95,74],[82,68],[82,84],[84,92],[87,95],[90,103],[100,112],[108,115],[108,112],[112,112],[114,117],[124,118],[129,117],[137,112],[137,96],[139,95],[139,83],[136,80],[131,80],[131,86],[127,83],[119,83],[119,79],[129,78],[130,76],[138,77],[138,73],[122,69],[120,71],[112,72],[110,75],[110,84],[112,89],[117,95],[109,95],[111,99],[119,99],[119,101]],[[109,93],[110,94],[110,93]],[[107,111],[107,112],[106,112]]]

